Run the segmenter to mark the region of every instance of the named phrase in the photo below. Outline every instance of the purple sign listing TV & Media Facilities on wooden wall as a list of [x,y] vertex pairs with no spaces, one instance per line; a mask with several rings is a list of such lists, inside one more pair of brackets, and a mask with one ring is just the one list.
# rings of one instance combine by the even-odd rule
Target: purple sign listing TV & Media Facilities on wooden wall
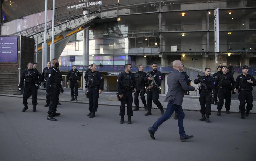
[[0,62],[17,62],[17,36],[0,37]]

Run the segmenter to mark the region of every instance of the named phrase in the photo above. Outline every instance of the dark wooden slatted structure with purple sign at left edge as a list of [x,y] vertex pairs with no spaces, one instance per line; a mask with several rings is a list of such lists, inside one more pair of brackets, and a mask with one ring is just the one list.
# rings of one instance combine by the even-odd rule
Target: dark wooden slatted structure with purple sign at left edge
[[33,60],[34,39],[18,35],[0,36],[1,94],[22,94],[18,90],[20,77],[27,63]]

